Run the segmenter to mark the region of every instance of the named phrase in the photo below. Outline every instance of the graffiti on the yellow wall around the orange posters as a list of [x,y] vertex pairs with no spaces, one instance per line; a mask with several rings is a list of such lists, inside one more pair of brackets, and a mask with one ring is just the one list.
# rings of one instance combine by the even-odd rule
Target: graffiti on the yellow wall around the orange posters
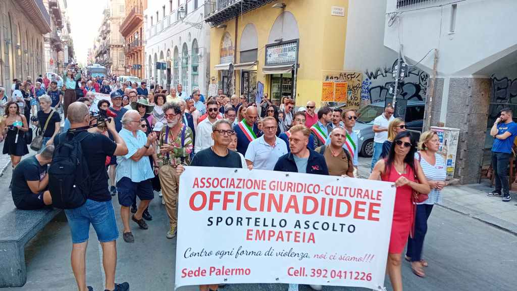
[[[323,81],[347,82],[346,108],[358,109],[361,100],[362,73],[354,71],[323,71]],[[342,106],[343,103],[332,103],[330,106]]]

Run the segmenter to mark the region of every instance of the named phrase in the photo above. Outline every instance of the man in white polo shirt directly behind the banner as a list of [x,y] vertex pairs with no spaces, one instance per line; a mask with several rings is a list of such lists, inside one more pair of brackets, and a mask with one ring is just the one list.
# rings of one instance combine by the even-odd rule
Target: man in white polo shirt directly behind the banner
[[262,120],[264,135],[252,140],[246,150],[248,168],[273,170],[278,158],[287,154],[287,144],[276,136],[277,121],[273,117]]

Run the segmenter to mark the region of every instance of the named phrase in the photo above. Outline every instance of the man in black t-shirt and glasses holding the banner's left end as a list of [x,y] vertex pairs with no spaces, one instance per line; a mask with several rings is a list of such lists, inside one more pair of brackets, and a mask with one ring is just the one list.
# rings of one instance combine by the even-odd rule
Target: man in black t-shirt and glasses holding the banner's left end
[[[232,141],[233,129],[229,121],[219,119],[212,124],[212,139],[214,146],[197,152],[190,163],[197,167],[222,167],[222,168],[242,168],[240,156],[237,152],[228,149]],[[178,175],[185,171],[183,165],[176,167]],[[187,173],[188,174],[188,173]],[[206,285],[201,285],[205,287]],[[208,285],[209,290],[217,290],[217,284]]]

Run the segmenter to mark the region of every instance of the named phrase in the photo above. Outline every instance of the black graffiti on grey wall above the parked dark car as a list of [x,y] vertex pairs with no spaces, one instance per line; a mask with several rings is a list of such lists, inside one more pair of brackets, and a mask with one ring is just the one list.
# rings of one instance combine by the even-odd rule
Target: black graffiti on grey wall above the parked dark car
[[[384,101],[389,94],[390,86],[394,87],[395,78],[393,71],[397,66],[397,60],[391,67],[367,69],[364,72],[365,78],[360,88],[361,100],[370,103]],[[404,79],[399,79],[399,92],[402,98],[407,100],[424,100],[427,93],[427,82],[429,75],[417,67],[408,67]]]

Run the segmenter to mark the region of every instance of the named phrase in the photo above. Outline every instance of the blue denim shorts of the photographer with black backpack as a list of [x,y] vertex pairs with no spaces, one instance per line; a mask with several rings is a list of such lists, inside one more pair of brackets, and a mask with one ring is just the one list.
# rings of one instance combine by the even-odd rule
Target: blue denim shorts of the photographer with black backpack
[[72,243],[88,240],[90,223],[94,226],[100,242],[114,241],[118,238],[115,211],[110,201],[87,199],[81,207],[65,209],[68,225],[72,232]]

